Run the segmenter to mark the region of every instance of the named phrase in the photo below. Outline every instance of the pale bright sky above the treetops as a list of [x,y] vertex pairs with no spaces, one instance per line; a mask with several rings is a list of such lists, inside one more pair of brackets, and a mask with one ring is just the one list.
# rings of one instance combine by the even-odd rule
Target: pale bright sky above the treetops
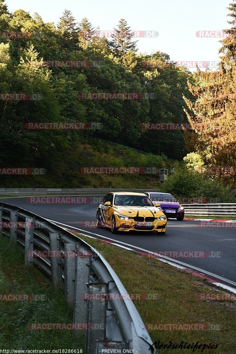
[[[11,12],[19,8],[28,11],[31,16],[37,12],[44,22],[55,24],[66,8],[77,22],[87,17],[93,27],[99,26],[101,31],[113,30],[124,18],[132,30],[139,31],[137,36],[141,36],[143,31],[155,31],[149,38],[136,38],[139,52],[167,53],[173,61],[187,62],[184,65],[191,71],[195,62],[202,68],[208,63],[213,70],[217,65],[221,47],[219,36],[223,29],[230,27],[227,23],[229,3],[230,0],[5,1]],[[200,32],[199,37],[197,31],[214,32]],[[147,32],[147,35],[150,33]]]

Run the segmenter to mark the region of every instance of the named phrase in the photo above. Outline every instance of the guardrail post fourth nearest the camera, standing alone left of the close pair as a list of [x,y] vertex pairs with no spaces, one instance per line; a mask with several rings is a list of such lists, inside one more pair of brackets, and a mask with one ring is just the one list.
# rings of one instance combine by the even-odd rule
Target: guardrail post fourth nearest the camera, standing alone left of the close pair
[[[57,255],[60,254],[60,233],[50,232],[50,251],[54,251]],[[52,274],[52,289],[62,288],[62,268],[61,268],[61,257],[51,257],[51,274]]]

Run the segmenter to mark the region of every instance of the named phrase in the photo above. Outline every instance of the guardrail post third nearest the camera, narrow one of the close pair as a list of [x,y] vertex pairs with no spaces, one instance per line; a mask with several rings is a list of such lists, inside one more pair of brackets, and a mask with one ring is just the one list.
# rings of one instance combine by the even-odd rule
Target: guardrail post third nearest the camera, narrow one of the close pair
[[[76,244],[64,244],[64,249],[66,255],[69,252],[76,252]],[[65,257],[64,258],[64,284],[65,284],[65,300],[67,301],[70,308],[74,307],[74,296],[75,296],[75,263],[76,257]]]

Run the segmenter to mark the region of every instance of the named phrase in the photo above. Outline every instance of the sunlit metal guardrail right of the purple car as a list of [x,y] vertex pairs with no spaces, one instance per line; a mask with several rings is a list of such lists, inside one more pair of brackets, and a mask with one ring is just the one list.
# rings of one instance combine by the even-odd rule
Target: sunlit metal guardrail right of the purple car
[[236,203],[183,204],[185,215],[236,216]]

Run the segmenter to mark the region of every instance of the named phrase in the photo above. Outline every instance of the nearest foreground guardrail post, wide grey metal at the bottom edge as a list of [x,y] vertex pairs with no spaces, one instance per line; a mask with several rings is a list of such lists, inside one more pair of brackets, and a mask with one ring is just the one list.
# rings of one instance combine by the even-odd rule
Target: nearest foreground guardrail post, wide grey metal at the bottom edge
[[91,354],[96,351],[96,341],[104,341],[106,338],[106,316],[107,298],[102,294],[108,293],[107,283],[90,283],[88,287],[88,298],[93,294],[99,294],[99,300],[87,300],[87,330],[85,337],[85,353]]

